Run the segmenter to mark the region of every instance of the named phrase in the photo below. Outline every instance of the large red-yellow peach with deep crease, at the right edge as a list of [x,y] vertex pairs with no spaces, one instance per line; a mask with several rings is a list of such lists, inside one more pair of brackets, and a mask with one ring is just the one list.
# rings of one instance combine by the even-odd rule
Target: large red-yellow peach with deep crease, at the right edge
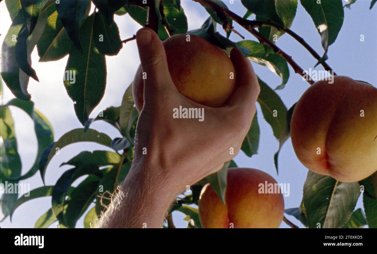
[[377,89],[346,76],[318,81],[301,96],[291,119],[297,158],[338,181],[360,181],[377,170]]

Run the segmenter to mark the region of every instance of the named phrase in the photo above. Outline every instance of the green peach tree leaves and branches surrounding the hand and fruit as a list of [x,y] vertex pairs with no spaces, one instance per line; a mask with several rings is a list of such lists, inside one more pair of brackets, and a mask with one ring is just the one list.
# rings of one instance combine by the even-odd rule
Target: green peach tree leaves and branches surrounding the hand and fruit
[[[233,0],[194,1],[200,4],[198,8],[205,8],[209,17],[201,27],[188,31],[188,20],[181,0],[5,0],[12,24],[8,32],[1,35],[4,39],[1,77],[15,98],[1,104],[1,183],[17,184],[37,172],[44,183],[51,159],[60,149],[72,143],[95,142],[106,147],[106,150],[81,151],[75,157],[62,161],[61,165],[72,168],[64,172],[55,185],[31,190],[29,196],[2,193],[1,209],[5,217],[12,216],[15,209],[26,201],[51,196],[51,208],[41,215],[35,227],[49,227],[59,222],[60,227],[74,228],[82,216],[84,227],[90,227],[127,176],[133,159],[138,120],[132,84],[125,90],[120,106],[111,106],[100,111],[98,116],[89,118],[106,88],[105,56],[117,55],[122,47],[127,47],[128,41],[135,39],[120,38],[114,15],[130,15],[140,26],[155,30],[161,40],[175,34],[189,33],[211,41],[227,53],[237,48],[250,61],[267,67],[279,76],[281,83],[274,87],[259,78],[261,93],[257,99],[264,119],[279,140],[279,147],[271,154],[271,160],[274,160],[278,170],[279,151],[290,137],[290,120],[295,105],[287,108],[277,90],[284,89],[292,71],[301,76],[305,75],[305,71],[297,64],[300,59],[293,59],[277,46],[276,41],[283,35],[293,37],[297,41],[295,47],[302,46],[302,50],[308,50],[313,56],[313,65],[322,65],[324,70],[333,71],[326,63],[329,46],[334,43],[342,27],[344,8],[350,8],[356,0],[348,1],[345,6],[342,0],[300,0],[313,20],[311,29],[317,29],[321,38],[321,54],[290,29],[296,16],[297,0],[241,0],[245,8],[241,14],[228,9],[227,5],[231,5]],[[371,1],[370,9],[375,2]],[[252,15],[254,19],[250,18]],[[235,30],[235,24],[243,27],[251,38],[245,39]],[[223,29],[225,36],[218,29]],[[231,33],[237,34],[240,40],[231,41]],[[83,128],[70,130],[57,141],[54,141],[51,124],[34,108],[32,96],[28,93],[29,79],[38,81],[40,75],[33,69],[30,60],[34,49],[41,62],[56,61],[68,55],[62,85],[72,99],[71,107]],[[307,82],[314,83],[312,80]],[[2,96],[2,88],[0,91]],[[21,123],[14,123],[11,114],[13,107],[20,108],[31,117],[37,137],[37,158],[23,175],[14,131],[14,124]],[[118,130],[119,137],[111,139],[106,133],[91,129],[94,121],[107,122]],[[252,157],[257,153],[258,145],[259,125],[255,115],[241,150]],[[171,213],[180,211],[187,215],[187,227],[200,228],[195,204],[198,204],[202,186],[210,183],[224,202],[227,169],[236,166],[234,161],[225,163],[219,172],[207,176],[178,196],[167,217],[167,227],[174,227]],[[86,178],[77,187],[72,187],[72,183],[81,176]],[[363,192],[360,192],[360,186]],[[364,225],[376,228],[375,194],[370,178],[359,183],[341,183],[331,176],[309,172],[303,186],[301,204],[297,204],[297,208],[286,209],[285,213],[296,217],[309,228],[317,227],[318,223],[331,228],[359,228]],[[361,208],[354,210],[360,195],[363,195],[364,211]],[[93,203],[94,206],[88,211]],[[297,227],[286,218],[284,221],[291,227]]]

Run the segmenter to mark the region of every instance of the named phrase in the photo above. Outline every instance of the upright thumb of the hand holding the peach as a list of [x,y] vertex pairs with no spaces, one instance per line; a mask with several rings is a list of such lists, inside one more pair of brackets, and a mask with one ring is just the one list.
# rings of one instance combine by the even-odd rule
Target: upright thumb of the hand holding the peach
[[173,84],[166,60],[164,45],[158,35],[149,28],[142,28],[136,33],[141,68],[146,73],[144,93],[165,90]]

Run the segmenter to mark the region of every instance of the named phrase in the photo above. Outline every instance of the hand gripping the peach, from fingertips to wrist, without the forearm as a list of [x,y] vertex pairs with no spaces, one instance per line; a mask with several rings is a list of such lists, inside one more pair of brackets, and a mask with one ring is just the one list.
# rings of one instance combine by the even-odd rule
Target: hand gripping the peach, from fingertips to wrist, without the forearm
[[[135,161],[159,165],[172,195],[221,169],[236,156],[256,111],[259,84],[250,61],[231,51],[238,87],[220,108],[187,99],[170,78],[164,46],[155,32],[144,28],[136,35],[144,80],[144,107],[135,138]],[[173,108],[204,108],[204,121],[174,119]],[[147,154],[143,155],[143,149]],[[231,154],[234,149],[234,154]]]

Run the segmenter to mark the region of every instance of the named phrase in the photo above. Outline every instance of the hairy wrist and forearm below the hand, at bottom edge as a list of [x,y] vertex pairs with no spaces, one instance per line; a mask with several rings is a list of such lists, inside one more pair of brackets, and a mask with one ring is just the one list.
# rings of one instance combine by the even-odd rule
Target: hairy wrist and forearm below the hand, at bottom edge
[[116,197],[101,216],[101,228],[160,228],[176,193],[164,183],[163,170],[133,164]]

